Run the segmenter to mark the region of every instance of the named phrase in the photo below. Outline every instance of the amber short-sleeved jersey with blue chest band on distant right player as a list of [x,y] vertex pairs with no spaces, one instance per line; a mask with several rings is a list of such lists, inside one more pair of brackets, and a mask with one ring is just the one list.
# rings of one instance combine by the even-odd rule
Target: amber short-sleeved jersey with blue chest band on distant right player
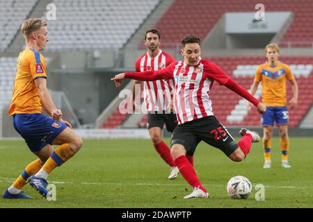
[[257,67],[255,82],[262,82],[262,103],[266,106],[287,105],[286,80],[294,80],[294,75],[288,65],[278,62],[271,67],[264,63]]

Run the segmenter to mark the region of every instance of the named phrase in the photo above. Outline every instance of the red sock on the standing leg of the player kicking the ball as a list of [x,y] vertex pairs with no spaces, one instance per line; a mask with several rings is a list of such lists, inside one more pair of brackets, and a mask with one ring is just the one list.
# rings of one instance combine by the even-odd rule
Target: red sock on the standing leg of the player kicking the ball
[[202,191],[207,192],[204,187],[202,187],[200,180],[195,174],[195,170],[193,166],[191,166],[190,162],[187,160],[185,155],[181,155],[175,159],[175,164],[177,165],[179,172],[182,173],[184,179],[190,184],[192,187],[199,187]]

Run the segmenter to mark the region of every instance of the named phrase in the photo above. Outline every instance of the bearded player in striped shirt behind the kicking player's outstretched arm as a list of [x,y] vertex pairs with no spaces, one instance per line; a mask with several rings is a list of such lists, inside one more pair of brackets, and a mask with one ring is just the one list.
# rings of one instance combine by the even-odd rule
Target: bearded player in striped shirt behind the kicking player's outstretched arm
[[[157,71],[175,62],[175,58],[159,48],[160,38],[161,33],[157,29],[150,29],[145,32],[145,46],[147,47],[147,52],[136,60],[136,71]],[[170,133],[172,133],[175,126],[177,126],[176,115],[172,112],[168,112],[168,106],[172,105],[175,85],[174,80],[154,80],[145,82],[135,80],[132,90],[135,109],[139,105],[136,104],[136,101],[141,100],[136,99],[138,96],[141,97],[140,94],[136,95],[136,91],[141,91],[135,90],[141,88],[136,87],[136,85],[139,85],[138,83],[143,84],[143,98],[147,111],[149,112],[147,114],[147,123],[152,143],[162,159],[170,166],[168,179],[175,179],[177,178],[179,170],[170,155],[170,148],[163,142],[161,137],[164,124],[166,124],[166,129]],[[172,110],[172,108],[170,108],[170,110]],[[189,157],[189,160],[193,161],[192,157]]]

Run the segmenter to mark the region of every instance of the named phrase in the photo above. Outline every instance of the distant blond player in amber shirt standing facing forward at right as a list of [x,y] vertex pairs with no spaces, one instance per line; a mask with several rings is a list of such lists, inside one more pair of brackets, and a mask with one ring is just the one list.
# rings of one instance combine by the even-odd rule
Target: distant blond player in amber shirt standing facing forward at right
[[[259,65],[255,74],[255,80],[251,86],[251,94],[257,91],[259,83],[262,82],[262,103],[267,106],[265,114],[262,115],[263,126],[263,148],[264,169],[271,168],[271,138],[274,122],[280,133],[280,146],[282,150],[282,167],[290,168],[288,162],[289,137],[288,137],[288,110],[286,80],[291,83],[293,97],[289,101],[290,108],[296,108],[298,103],[298,85],[289,66],[280,62],[278,56],[280,49],[277,44],[268,44],[265,47],[268,62]],[[250,103],[248,103],[250,110]]]

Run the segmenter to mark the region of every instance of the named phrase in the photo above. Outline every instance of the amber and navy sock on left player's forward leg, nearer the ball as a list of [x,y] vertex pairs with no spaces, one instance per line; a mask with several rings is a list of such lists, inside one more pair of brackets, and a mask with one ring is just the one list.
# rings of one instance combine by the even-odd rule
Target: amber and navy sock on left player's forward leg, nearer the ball
[[53,171],[56,167],[61,166],[73,155],[75,155],[75,153],[72,151],[70,145],[62,144],[56,148],[51,157],[49,157],[47,162],[45,162],[45,164],[42,166],[42,169],[44,169],[47,173],[51,173],[51,171]]

